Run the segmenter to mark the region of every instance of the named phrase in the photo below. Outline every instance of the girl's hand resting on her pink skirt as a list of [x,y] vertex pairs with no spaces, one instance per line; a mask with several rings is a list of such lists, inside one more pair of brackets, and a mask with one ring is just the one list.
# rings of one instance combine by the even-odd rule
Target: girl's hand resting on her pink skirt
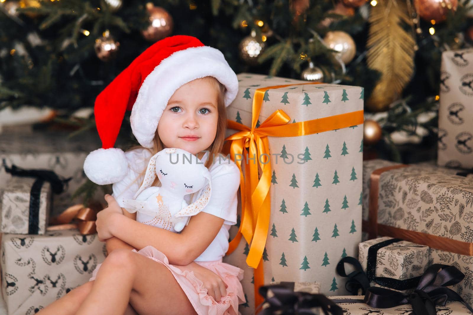
[[181,270],[193,271],[197,279],[202,281],[204,288],[207,289],[207,294],[210,295],[215,301],[219,302],[220,298],[227,295],[228,285],[223,282],[222,278],[218,274],[209,269],[202,267],[200,264],[194,262],[186,266],[178,266]]

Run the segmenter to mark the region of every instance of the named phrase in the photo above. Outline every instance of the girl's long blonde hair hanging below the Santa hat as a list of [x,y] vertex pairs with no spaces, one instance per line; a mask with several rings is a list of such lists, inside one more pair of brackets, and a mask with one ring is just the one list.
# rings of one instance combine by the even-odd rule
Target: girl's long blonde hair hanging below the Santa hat
[[[218,119],[217,119],[217,132],[215,135],[215,139],[213,140],[212,144],[206,148],[204,151],[208,151],[209,153],[209,158],[205,162],[205,167],[209,168],[213,162],[214,159],[213,157],[218,156],[223,148],[223,144],[225,142],[225,133],[227,130],[227,108],[225,107],[225,93],[227,91],[225,85],[221,84],[219,80],[217,80],[215,77],[202,77],[202,80],[206,80],[210,84],[212,84],[216,89],[217,89],[217,111],[218,111]],[[131,148],[129,148],[127,151],[135,150],[135,149],[147,149],[151,153],[151,156],[155,155],[159,151],[165,149],[165,145],[161,141],[158,135],[158,128],[156,128],[156,133],[154,135],[153,139],[153,147],[152,148],[144,148],[141,145],[134,145]],[[198,158],[202,158],[203,151],[200,153],[197,153]],[[141,176],[144,176],[146,173],[146,169],[142,171],[140,174],[139,178]],[[142,184],[142,183],[141,183]],[[140,186],[141,186],[140,184]],[[153,186],[160,186],[160,182],[158,177],[155,179]]]

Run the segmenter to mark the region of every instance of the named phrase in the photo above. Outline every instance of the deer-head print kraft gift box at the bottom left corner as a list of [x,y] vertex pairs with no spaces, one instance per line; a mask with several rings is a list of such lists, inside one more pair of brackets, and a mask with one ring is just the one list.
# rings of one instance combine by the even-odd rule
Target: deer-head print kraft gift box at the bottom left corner
[[3,234],[0,265],[8,314],[34,314],[87,282],[105,254],[105,243],[96,234],[79,230]]

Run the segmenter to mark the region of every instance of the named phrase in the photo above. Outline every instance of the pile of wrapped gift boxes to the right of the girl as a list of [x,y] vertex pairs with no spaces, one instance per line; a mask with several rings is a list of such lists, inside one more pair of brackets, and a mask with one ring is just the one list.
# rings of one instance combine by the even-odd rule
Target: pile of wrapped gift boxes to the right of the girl
[[[239,156],[245,183],[224,261],[245,270],[242,314],[274,302],[258,289],[279,281],[316,282],[343,312],[408,314],[412,303],[405,297],[424,290],[419,283],[440,270],[438,279],[456,275],[435,280],[440,291],[446,286],[453,293],[442,291],[448,302],[426,298],[437,303],[437,313],[425,314],[473,314],[473,90],[467,84],[473,51],[447,51],[442,58],[438,161],[415,165],[363,162],[362,123],[326,126],[324,118],[350,119],[363,110],[363,88],[238,75],[226,152],[242,153],[240,141],[249,157],[269,153],[256,172],[248,156]],[[269,191],[261,195],[265,186]],[[370,305],[370,287],[405,299]],[[412,314],[423,314],[414,308]]]

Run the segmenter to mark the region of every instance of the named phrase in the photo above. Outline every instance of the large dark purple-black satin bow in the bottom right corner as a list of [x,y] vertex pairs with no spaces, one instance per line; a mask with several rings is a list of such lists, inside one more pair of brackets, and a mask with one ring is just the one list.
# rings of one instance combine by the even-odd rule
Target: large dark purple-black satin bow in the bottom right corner
[[463,298],[454,290],[446,288],[462,281],[463,278],[463,272],[454,266],[433,264],[424,272],[417,288],[411,294],[371,287],[367,289],[364,302],[376,308],[411,304],[414,315],[436,315],[436,305],[445,306],[447,301],[459,301],[473,313],[473,309]]

